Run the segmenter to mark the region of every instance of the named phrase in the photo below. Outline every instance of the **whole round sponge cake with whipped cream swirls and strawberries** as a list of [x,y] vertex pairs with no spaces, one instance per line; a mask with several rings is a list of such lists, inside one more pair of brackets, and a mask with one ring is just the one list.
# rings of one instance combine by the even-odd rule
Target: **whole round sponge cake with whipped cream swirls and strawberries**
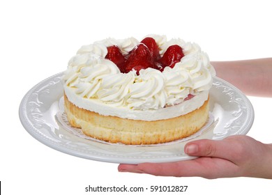
[[82,46],[63,75],[71,126],[89,137],[156,144],[188,137],[209,118],[216,72],[199,45],[150,35]]

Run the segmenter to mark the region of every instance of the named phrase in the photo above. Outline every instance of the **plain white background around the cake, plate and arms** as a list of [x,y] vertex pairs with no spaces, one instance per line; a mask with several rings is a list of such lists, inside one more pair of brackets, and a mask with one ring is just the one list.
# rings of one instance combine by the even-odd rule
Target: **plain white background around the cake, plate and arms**
[[[260,0],[1,1],[1,191],[103,194],[84,189],[88,185],[188,185],[183,194],[271,194],[271,180],[257,178],[206,180],[119,173],[117,164],[81,159],[43,145],[24,130],[18,116],[24,94],[39,81],[65,70],[81,45],[108,37],[141,39],[156,33],[197,42],[211,61],[271,57],[271,19],[271,3]],[[271,143],[272,100],[249,98],[255,123],[248,135]]]

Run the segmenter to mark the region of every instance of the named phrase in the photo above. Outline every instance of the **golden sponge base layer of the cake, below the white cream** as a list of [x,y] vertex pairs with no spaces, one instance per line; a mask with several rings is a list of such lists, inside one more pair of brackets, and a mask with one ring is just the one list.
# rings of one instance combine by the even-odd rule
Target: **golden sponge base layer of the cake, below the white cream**
[[200,130],[209,118],[209,100],[186,115],[155,121],[102,116],[75,106],[66,95],[64,109],[70,125],[81,128],[87,136],[129,145],[165,143],[189,137]]

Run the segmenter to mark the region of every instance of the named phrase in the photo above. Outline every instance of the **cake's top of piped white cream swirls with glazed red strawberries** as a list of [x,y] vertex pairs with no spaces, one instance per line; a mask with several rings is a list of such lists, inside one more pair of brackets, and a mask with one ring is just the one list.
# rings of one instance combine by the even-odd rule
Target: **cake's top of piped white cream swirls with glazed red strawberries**
[[141,42],[107,38],[82,46],[68,62],[63,81],[84,100],[156,110],[209,91],[215,75],[199,45],[149,35]]

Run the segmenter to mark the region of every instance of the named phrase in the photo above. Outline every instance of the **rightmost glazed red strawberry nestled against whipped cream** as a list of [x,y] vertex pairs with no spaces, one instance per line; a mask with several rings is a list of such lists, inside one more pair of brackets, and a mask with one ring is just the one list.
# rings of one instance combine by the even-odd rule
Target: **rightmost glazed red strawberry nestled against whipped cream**
[[173,68],[176,63],[181,61],[183,56],[182,48],[179,45],[171,45],[167,48],[165,54],[163,54],[160,63],[162,63],[163,68],[165,66]]

